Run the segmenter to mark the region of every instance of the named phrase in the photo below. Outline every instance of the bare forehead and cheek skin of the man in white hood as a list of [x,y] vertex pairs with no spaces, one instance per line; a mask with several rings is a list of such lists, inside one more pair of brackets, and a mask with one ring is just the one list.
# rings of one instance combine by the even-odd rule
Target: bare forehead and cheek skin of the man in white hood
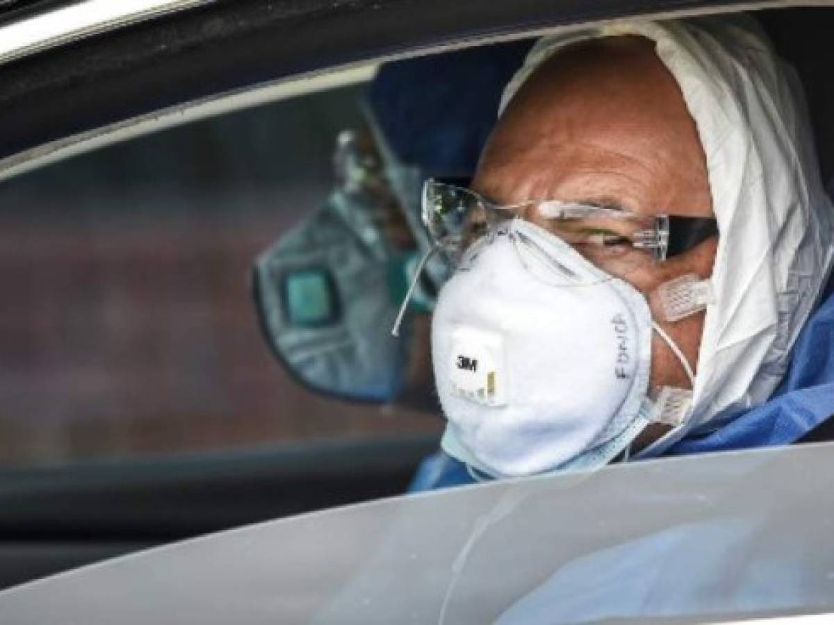
[[[713,217],[706,158],[681,89],[644,37],[606,37],[557,52],[520,87],[481,154],[472,184],[498,203],[556,199],[615,206],[641,215]],[[535,221],[535,220],[534,220]],[[704,313],[662,321],[655,290],[671,278],[708,278],[717,239],[663,263],[644,251],[622,259],[591,258],[649,300],[656,323],[693,370]],[[653,333],[652,388],[690,388],[671,349]],[[641,448],[665,426],[651,425]]]

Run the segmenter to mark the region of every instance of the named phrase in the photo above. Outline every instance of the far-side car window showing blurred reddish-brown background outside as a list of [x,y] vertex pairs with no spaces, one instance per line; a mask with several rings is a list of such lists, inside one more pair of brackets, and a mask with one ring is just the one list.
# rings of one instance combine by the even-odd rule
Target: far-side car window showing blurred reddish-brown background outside
[[[275,361],[259,253],[327,202],[366,84],[118,143],[0,185],[0,463],[437,433]],[[385,332],[384,328],[380,332]]]

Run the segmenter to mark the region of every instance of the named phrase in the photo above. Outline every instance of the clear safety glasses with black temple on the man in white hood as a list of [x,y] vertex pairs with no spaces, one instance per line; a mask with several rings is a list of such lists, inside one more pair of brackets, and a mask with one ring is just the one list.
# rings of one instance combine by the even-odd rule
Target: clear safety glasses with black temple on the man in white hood
[[501,205],[434,179],[424,184],[422,208],[434,243],[455,262],[472,243],[513,218],[535,223],[590,258],[625,257],[641,250],[654,261],[664,261],[718,233],[712,218],[646,216],[558,200]]

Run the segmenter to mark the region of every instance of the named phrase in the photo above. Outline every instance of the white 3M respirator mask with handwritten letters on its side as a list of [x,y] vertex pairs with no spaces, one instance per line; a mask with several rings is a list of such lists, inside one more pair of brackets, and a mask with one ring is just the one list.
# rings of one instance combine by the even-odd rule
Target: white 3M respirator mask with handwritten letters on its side
[[435,308],[445,452],[495,478],[609,463],[686,410],[684,389],[648,399],[653,328],[641,293],[562,239],[518,218],[493,229]]

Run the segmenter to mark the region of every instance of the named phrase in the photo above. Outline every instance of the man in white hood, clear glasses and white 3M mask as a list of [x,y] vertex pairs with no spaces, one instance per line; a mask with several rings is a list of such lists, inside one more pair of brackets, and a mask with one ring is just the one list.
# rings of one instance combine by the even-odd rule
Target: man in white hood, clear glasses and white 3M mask
[[471,188],[425,203],[458,269],[432,324],[445,453],[415,490],[791,443],[834,413],[834,302],[809,321],[831,203],[749,18],[545,37]]

